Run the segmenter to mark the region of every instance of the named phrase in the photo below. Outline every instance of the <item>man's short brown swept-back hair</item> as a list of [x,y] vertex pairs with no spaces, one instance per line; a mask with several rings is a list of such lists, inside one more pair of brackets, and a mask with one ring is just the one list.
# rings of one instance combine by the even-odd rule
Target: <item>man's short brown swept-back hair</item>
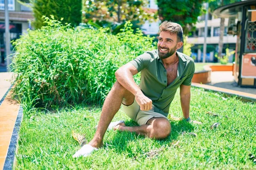
[[177,34],[177,40],[182,41],[183,38],[183,30],[180,24],[173,23],[171,21],[164,21],[159,26],[160,32],[168,31],[170,34]]

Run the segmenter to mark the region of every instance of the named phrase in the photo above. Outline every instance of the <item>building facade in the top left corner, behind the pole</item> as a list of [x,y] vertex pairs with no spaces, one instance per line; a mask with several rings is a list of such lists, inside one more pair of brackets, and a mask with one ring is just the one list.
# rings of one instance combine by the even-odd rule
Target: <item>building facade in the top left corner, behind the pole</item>
[[[33,19],[32,8],[29,0],[22,0],[25,5],[17,2],[17,0],[8,0],[9,8],[9,29],[10,40],[16,40],[21,34],[26,32],[28,28],[31,29],[31,22]],[[0,0],[0,63],[5,65],[5,7],[4,0]],[[11,45],[11,50],[13,49]]]

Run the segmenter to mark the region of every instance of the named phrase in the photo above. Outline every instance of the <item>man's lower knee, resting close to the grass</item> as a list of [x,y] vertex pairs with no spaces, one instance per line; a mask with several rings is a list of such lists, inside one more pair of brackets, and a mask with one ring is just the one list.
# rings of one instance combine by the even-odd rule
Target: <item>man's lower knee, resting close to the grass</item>
[[170,122],[165,119],[156,119],[155,121],[152,122],[152,133],[148,136],[150,138],[155,138],[155,139],[164,139],[168,137],[171,133],[171,124]]

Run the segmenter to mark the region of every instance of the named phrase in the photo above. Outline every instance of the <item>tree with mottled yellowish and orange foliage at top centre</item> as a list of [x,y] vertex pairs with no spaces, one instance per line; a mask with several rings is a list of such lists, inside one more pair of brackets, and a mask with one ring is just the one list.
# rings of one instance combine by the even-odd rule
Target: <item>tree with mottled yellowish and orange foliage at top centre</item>
[[154,12],[147,11],[147,4],[147,0],[83,0],[82,21],[122,24],[128,20],[135,20],[141,25],[146,20],[153,21],[157,18]]

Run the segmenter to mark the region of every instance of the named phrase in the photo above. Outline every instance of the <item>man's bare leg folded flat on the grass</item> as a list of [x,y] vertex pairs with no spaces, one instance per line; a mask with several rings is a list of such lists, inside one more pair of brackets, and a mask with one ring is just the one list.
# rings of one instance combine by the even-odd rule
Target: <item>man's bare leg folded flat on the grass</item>
[[137,134],[148,136],[154,139],[164,139],[171,133],[170,122],[163,117],[153,117],[148,120],[146,125],[128,127],[120,123],[114,130],[136,132]]

